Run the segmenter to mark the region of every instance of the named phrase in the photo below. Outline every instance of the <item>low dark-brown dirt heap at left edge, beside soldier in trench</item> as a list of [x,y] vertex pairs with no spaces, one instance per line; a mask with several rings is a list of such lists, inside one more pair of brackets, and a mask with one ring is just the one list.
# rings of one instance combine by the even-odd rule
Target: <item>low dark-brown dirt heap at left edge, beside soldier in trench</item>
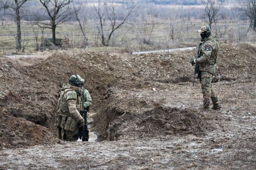
[[48,128],[36,125],[23,118],[15,118],[3,109],[0,112],[0,147],[20,147],[56,142],[54,134]]

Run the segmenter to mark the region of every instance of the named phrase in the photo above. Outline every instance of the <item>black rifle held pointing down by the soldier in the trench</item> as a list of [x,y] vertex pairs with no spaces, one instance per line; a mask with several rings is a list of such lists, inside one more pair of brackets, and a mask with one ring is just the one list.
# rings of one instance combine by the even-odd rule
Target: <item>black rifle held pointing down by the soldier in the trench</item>
[[[84,118],[84,126],[79,129],[79,132],[73,135],[73,138],[82,139],[82,141],[88,141],[89,139],[89,130],[87,125],[87,110],[81,110],[80,114]],[[79,123],[78,123],[79,126]]]

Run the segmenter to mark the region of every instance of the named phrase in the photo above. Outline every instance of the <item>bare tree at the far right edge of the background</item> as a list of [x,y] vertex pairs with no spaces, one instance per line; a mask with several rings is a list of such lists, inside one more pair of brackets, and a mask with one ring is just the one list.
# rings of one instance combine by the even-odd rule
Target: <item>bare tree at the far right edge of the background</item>
[[256,31],[256,0],[242,0],[242,9],[250,19],[250,26]]

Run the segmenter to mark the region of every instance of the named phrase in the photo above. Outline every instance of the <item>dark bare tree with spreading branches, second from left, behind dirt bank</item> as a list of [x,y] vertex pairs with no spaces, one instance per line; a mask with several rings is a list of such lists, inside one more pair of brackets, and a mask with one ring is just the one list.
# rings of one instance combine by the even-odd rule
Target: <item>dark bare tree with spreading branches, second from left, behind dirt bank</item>
[[43,25],[45,28],[52,30],[53,44],[56,44],[56,27],[67,21],[68,17],[73,14],[70,8],[72,0],[40,0],[48,15],[47,19],[50,23],[38,22],[38,25]]

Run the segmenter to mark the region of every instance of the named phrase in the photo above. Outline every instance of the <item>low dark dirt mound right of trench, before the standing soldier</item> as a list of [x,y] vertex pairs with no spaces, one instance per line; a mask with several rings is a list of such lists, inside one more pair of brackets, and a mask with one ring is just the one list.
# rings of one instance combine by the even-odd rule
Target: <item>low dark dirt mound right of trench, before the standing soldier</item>
[[[109,113],[113,114],[113,113]],[[163,138],[166,135],[204,135],[213,126],[191,109],[154,107],[132,115],[124,113],[108,127],[108,140]]]

